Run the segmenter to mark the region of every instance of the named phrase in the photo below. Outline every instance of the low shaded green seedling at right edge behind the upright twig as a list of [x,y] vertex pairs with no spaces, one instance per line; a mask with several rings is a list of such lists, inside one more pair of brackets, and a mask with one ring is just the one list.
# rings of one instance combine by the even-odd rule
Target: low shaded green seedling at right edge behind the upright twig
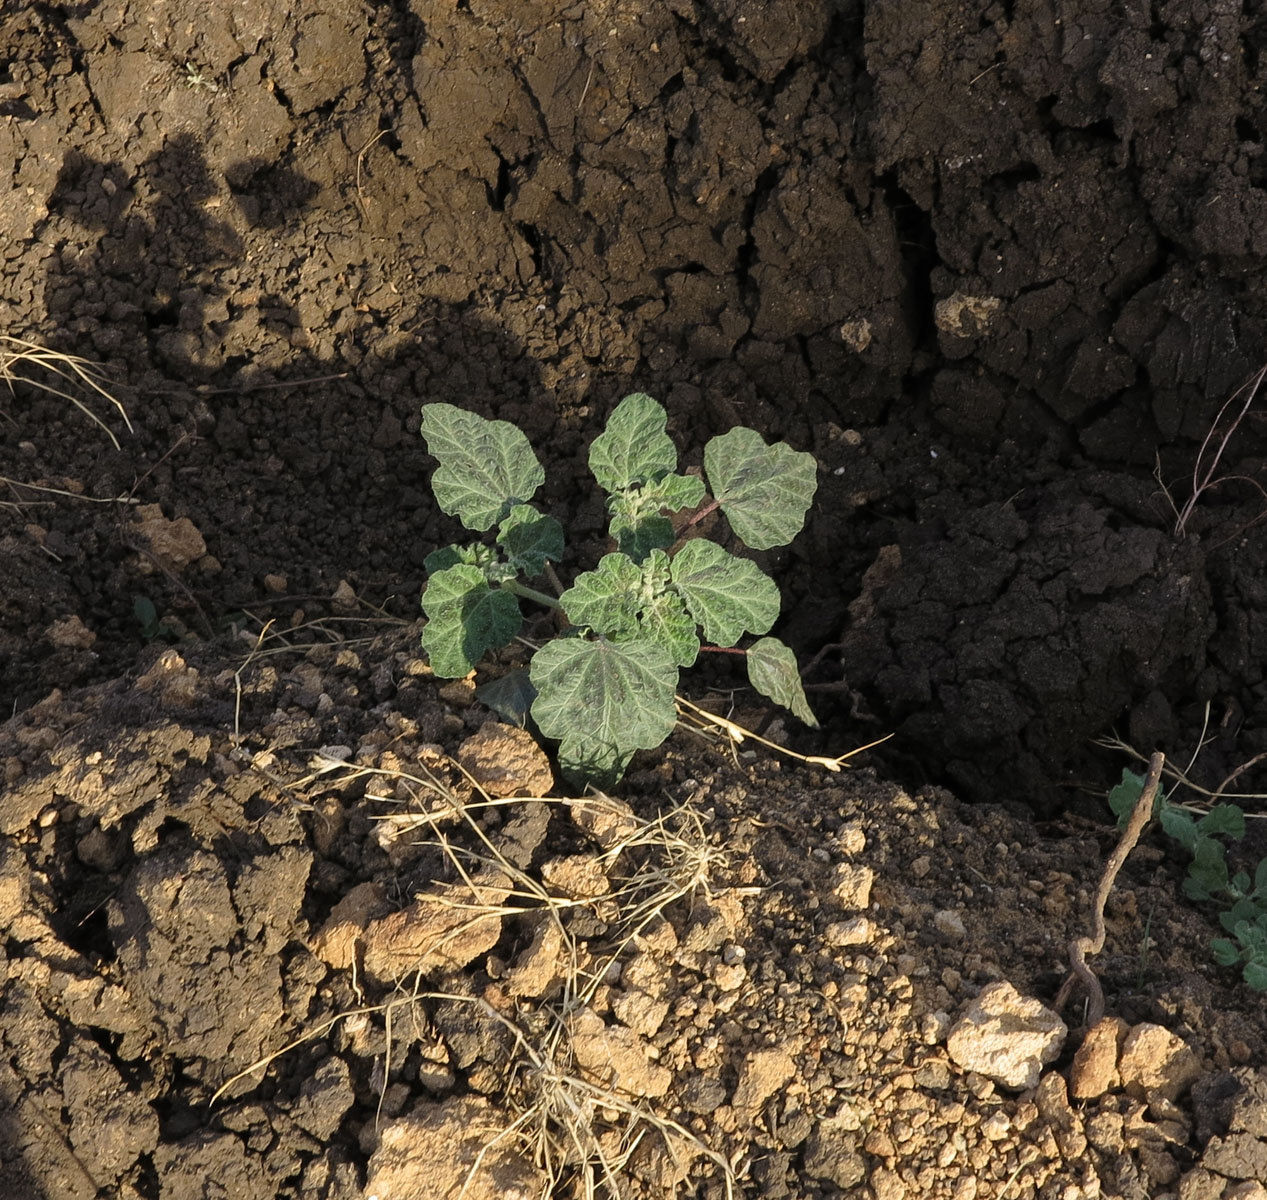
[[[1109,807],[1125,821],[1143,787],[1143,777],[1123,770],[1121,783],[1109,793]],[[1234,874],[1228,868],[1220,838],[1239,841],[1245,835],[1245,815],[1237,805],[1215,805],[1200,820],[1172,803],[1158,788],[1153,816],[1188,854],[1183,891],[1192,900],[1225,906],[1219,924],[1232,938],[1215,938],[1210,950],[1221,967],[1242,968],[1242,977],[1254,991],[1267,991],[1267,858],[1254,871]]]

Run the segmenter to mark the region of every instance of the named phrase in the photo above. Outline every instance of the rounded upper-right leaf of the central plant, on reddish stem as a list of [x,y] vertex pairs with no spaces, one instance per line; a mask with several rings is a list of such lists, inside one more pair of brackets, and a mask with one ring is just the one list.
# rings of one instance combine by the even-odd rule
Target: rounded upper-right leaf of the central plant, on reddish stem
[[742,426],[704,446],[704,471],[730,527],[754,550],[792,541],[818,485],[813,455],[786,442],[767,446]]

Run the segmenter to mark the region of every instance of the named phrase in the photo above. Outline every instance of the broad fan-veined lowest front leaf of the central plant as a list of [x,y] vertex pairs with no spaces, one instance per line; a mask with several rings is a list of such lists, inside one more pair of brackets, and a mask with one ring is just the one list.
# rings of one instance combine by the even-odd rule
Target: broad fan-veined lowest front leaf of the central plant
[[611,784],[673,731],[678,669],[654,642],[560,637],[532,658],[532,716],[574,781]]

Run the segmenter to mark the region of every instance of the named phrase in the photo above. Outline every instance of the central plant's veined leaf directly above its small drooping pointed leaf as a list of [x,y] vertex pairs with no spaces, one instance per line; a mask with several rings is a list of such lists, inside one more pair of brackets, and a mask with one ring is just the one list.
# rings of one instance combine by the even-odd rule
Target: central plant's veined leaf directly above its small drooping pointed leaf
[[688,541],[673,559],[672,578],[715,645],[732,646],[745,632],[764,634],[779,615],[774,580],[716,542]]

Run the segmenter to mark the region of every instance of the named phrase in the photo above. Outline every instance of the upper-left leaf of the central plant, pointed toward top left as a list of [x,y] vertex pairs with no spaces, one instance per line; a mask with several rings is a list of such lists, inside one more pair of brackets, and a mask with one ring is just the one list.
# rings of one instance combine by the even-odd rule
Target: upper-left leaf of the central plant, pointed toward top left
[[436,501],[469,530],[487,530],[545,483],[527,437],[508,421],[489,421],[452,404],[422,405],[422,436],[440,460]]

